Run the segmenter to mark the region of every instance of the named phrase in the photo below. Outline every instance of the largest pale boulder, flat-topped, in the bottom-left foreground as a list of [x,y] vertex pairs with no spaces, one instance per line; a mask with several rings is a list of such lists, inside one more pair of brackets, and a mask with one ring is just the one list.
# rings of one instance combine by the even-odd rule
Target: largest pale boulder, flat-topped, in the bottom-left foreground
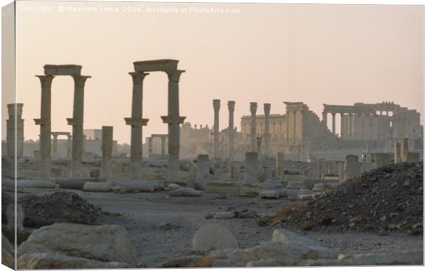
[[[28,240],[19,246],[17,254],[19,257],[27,254],[23,259],[32,259],[35,256],[28,254],[41,253],[63,254],[106,263],[126,263],[129,268],[137,267],[128,233],[119,225],[55,223],[42,227],[32,232]],[[52,257],[46,259],[51,261]],[[25,262],[28,264],[28,261]]]

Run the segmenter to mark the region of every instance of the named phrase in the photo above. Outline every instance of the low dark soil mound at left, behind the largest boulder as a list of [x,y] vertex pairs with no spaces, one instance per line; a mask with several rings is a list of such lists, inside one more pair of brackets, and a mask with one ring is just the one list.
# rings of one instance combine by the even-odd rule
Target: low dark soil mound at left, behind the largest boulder
[[100,208],[75,192],[55,192],[41,197],[26,194],[18,199],[18,203],[25,214],[23,225],[28,228],[60,222],[94,225],[102,213]]

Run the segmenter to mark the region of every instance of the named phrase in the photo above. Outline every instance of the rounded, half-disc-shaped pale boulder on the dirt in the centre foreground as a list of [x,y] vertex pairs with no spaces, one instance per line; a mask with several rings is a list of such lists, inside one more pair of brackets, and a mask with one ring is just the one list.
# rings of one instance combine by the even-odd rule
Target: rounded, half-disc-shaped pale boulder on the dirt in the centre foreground
[[202,226],[192,240],[194,251],[222,250],[238,248],[233,234],[222,225],[206,224]]

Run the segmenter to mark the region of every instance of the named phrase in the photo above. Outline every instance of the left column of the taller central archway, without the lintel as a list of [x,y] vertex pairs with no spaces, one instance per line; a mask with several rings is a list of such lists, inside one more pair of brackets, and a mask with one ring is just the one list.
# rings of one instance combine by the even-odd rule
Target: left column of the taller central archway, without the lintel
[[133,103],[131,117],[125,118],[130,126],[130,178],[142,178],[143,163],[143,126],[148,119],[143,119],[143,80],[148,75],[145,72],[129,72],[133,78]]

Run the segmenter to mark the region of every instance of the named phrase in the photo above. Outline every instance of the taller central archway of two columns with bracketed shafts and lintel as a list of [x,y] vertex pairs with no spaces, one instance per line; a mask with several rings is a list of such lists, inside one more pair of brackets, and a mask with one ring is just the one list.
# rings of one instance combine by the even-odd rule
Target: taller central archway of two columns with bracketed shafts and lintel
[[133,77],[133,106],[131,117],[125,118],[131,126],[130,142],[130,171],[131,179],[142,178],[142,126],[148,119],[142,118],[143,79],[148,72],[166,72],[168,74],[168,116],[162,116],[168,123],[168,181],[179,179],[179,124],[186,117],[179,116],[179,77],[184,70],[177,70],[178,61],[175,59],[159,59],[134,62]]

